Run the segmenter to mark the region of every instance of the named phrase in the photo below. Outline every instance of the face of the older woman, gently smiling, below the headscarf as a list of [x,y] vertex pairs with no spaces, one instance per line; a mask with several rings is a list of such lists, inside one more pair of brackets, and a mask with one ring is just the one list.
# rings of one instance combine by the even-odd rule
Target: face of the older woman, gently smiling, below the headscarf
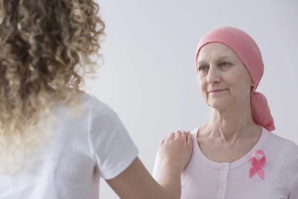
[[252,81],[237,54],[223,43],[209,43],[197,59],[198,82],[208,105],[221,109],[250,100]]

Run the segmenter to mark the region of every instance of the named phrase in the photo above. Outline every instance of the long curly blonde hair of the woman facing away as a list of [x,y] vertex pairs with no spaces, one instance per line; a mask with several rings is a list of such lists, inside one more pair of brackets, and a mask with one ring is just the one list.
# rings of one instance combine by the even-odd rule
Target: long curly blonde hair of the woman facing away
[[38,145],[53,99],[79,101],[104,35],[98,11],[94,0],[0,0],[1,164]]

